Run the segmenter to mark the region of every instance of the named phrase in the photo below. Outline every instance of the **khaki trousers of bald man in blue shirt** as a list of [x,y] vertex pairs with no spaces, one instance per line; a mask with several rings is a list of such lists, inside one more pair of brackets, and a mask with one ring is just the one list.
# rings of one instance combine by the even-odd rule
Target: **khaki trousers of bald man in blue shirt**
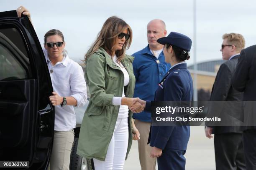
[[150,157],[152,147],[147,144],[151,123],[135,120],[134,124],[140,132],[141,138],[138,140],[138,152],[141,163],[141,170],[156,170],[156,158]]

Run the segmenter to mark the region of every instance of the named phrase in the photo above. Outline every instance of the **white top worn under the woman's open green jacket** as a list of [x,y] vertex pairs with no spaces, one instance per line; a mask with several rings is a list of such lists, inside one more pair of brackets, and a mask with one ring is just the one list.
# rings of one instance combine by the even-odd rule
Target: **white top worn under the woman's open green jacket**
[[[120,64],[118,64],[117,59],[118,58],[115,55],[113,57],[113,61],[115,62],[116,65],[118,65],[118,67],[120,67],[121,71],[123,72],[123,75],[124,75],[123,86],[127,86],[129,83],[129,80],[130,80],[129,74],[128,74],[127,70],[125,69],[125,67],[123,67],[121,62],[120,62]],[[122,97],[125,97],[124,88],[123,88]],[[128,117],[128,111],[129,111],[127,105],[121,105],[122,97],[113,97],[113,100],[112,100],[113,105],[120,105],[119,112],[118,112],[118,118],[121,118],[121,119]]]

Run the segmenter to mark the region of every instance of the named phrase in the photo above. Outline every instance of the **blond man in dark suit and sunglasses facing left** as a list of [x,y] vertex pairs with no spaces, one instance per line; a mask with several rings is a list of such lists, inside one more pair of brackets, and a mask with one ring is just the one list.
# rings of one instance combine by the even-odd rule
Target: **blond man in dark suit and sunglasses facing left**
[[[220,51],[223,60],[212,87],[211,101],[241,101],[243,92],[238,92],[231,85],[231,77],[234,75],[238,57],[245,46],[245,40],[241,34],[230,33],[222,36],[223,43]],[[221,116],[228,117],[228,113],[236,108],[221,108]],[[211,110],[209,110],[211,112]],[[232,113],[231,113],[232,114]],[[231,119],[232,117],[229,117]],[[231,120],[230,120],[231,121]],[[232,119],[239,125],[239,120]],[[237,122],[236,122],[237,121]],[[206,124],[207,125],[207,124]],[[207,138],[214,136],[216,170],[245,170],[245,160],[242,142],[242,131],[239,126],[206,126]]]

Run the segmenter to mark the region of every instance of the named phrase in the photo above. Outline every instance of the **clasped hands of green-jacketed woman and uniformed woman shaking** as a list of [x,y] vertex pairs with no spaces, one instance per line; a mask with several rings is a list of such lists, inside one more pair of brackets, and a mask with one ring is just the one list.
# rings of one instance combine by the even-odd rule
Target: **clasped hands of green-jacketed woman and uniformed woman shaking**
[[146,107],[146,101],[140,98],[122,97],[122,105],[128,105],[129,109],[134,113],[142,112]]

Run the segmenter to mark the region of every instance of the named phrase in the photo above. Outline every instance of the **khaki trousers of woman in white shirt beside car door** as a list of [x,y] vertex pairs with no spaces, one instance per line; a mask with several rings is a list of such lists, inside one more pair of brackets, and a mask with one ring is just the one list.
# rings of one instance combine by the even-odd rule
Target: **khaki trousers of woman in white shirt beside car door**
[[69,170],[74,130],[54,131],[54,143],[48,170]]

